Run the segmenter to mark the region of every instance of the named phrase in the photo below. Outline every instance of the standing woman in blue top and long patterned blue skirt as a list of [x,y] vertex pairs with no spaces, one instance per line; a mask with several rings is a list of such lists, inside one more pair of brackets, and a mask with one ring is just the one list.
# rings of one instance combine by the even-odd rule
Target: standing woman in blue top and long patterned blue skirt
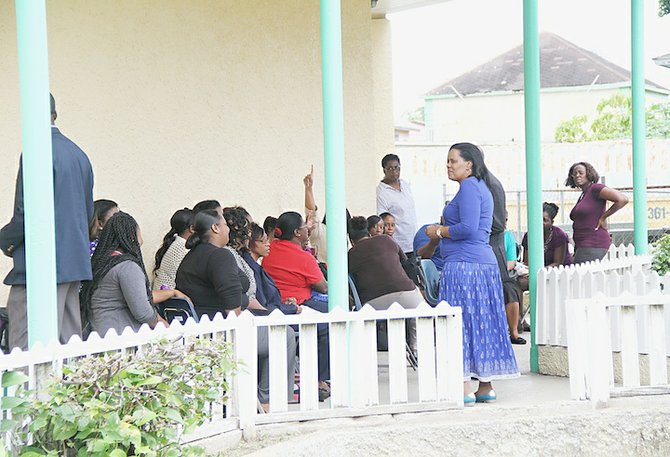
[[[444,225],[431,225],[426,234],[440,239],[445,258],[439,298],[463,310],[464,403],[492,402],[496,393],[491,381],[518,377],[519,368],[507,333],[500,272],[489,245],[493,197],[481,150],[470,143],[454,144],[447,174],[460,189],[444,208]],[[472,378],[479,380],[474,394]]]

